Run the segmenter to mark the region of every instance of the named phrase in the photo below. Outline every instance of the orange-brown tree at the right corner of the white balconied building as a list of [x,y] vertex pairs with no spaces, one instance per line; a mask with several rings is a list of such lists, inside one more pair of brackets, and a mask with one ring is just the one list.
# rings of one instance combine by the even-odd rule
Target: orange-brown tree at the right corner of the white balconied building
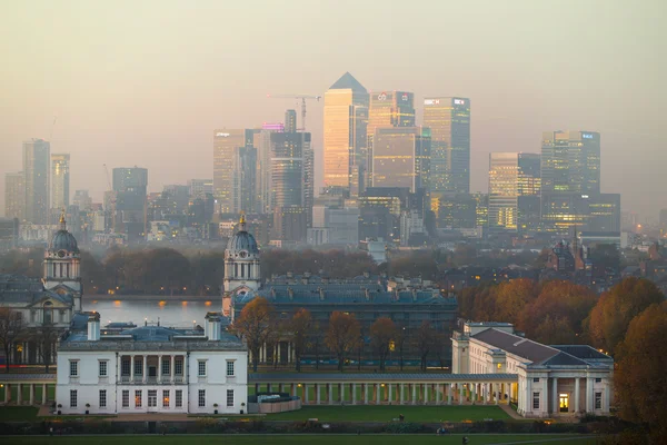
[[252,355],[252,370],[257,372],[259,352],[273,334],[273,306],[266,298],[257,297],[248,303],[233,323],[233,329],[246,339]]

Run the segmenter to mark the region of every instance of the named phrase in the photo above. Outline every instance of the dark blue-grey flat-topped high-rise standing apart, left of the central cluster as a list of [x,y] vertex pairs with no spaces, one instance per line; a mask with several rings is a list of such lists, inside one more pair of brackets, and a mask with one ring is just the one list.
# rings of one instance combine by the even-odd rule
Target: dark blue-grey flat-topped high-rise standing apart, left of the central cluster
[[143,240],[146,236],[148,170],[146,168],[115,168],[117,233],[125,234],[128,241]]

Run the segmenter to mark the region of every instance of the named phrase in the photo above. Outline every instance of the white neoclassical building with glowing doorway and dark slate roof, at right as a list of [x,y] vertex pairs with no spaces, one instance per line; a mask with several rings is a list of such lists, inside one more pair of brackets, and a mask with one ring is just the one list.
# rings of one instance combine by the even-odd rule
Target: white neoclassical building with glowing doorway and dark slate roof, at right
[[452,374],[517,376],[505,396],[525,417],[609,414],[614,359],[590,346],[542,345],[509,323],[466,323],[451,340]]

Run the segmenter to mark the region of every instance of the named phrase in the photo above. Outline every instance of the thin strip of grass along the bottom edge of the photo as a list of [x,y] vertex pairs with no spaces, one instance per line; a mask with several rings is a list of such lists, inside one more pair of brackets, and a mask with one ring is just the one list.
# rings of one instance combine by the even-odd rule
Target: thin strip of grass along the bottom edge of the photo
[[[501,444],[565,444],[594,445],[595,437],[571,435],[468,435],[470,445]],[[306,445],[317,442],[318,445],[459,445],[460,434],[451,436],[436,435],[400,435],[400,436],[337,436],[337,435],[256,435],[256,436],[68,436],[68,437],[12,437],[13,443],[21,445],[113,445],[122,441],[125,445],[181,445],[181,444],[220,444],[220,445]]]

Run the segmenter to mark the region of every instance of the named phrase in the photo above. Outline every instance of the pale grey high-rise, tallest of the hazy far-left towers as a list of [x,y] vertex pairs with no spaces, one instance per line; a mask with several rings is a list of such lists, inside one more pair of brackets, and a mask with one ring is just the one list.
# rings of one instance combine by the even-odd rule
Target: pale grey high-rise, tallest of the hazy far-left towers
[[26,188],[26,220],[32,224],[49,221],[49,167],[51,145],[42,139],[23,142],[23,177]]

